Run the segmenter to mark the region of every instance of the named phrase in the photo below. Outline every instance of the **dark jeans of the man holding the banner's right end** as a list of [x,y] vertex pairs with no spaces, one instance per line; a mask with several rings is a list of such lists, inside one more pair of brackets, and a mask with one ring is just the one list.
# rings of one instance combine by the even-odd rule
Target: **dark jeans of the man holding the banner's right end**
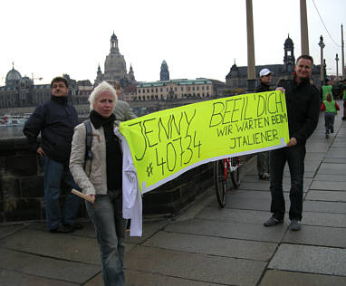
[[303,213],[303,176],[305,145],[295,145],[290,148],[280,148],[270,151],[270,191],[272,204],[270,211],[277,219],[284,219],[284,165],[288,163],[291,175],[290,189],[290,220],[302,220]]

